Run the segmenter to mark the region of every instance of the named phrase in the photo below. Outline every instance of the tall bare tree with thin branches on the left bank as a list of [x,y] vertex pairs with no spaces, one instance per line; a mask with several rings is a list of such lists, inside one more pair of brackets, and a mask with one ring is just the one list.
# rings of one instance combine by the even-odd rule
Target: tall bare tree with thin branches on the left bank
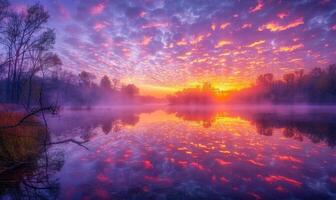
[[40,4],[30,6],[25,13],[9,11],[5,18],[0,41],[6,53],[7,101],[21,103],[23,85],[31,84],[45,65],[43,58],[55,44],[55,33],[44,27],[49,14]]

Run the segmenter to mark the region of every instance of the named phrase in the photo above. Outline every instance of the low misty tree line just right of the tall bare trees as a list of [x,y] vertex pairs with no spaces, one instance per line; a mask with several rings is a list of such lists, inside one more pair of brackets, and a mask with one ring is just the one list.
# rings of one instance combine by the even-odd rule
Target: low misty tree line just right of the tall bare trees
[[139,95],[139,88],[134,84],[123,84],[118,79],[110,79],[104,75],[100,80],[87,71],[78,75],[62,71],[54,79],[52,85],[57,86],[57,98],[62,105],[93,106],[111,104],[133,104],[145,97]]

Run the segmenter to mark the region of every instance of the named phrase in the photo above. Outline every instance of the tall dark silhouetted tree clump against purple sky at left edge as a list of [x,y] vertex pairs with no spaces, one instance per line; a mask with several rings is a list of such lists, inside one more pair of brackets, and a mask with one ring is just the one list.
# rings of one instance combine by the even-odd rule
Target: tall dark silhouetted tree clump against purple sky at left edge
[[37,83],[34,77],[39,73],[41,79],[50,68],[61,64],[51,52],[55,33],[45,27],[48,19],[48,12],[40,4],[17,12],[10,9],[7,1],[0,0],[0,45],[4,59],[0,78],[6,80],[7,102],[30,107],[33,84]]

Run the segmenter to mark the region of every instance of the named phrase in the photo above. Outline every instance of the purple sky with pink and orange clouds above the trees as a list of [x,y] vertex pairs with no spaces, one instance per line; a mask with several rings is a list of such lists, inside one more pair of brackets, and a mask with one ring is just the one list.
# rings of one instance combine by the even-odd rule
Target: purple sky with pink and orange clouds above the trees
[[[35,0],[11,0],[14,9]],[[335,0],[40,0],[63,68],[163,96],[336,63]]]

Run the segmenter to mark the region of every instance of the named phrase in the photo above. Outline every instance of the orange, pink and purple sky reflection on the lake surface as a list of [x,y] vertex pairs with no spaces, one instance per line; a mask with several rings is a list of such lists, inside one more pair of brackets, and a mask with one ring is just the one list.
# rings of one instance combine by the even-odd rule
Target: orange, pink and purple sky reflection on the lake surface
[[[335,187],[332,181],[320,179],[325,186],[313,192],[312,183],[307,182],[316,176],[330,176],[333,180],[334,176],[328,170],[319,170],[322,163],[327,169],[333,169],[336,155],[326,143],[316,146],[313,143],[316,139],[303,130],[289,136],[289,132],[284,131],[286,128],[273,127],[271,121],[258,122],[260,117],[256,114],[252,112],[245,116],[219,108],[202,112],[195,109],[140,112],[139,120],[133,126],[123,126],[118,132],[107,135],[98,130],[88,144],[93,151],[71,150],[59,177],[64,187],[82,189],[68,189],[60,195],[88,197],[89,194],[81,191],[92,191],[91,187],[82,185],[82,181],[70,178],[75,168],[76,173],[85,172],[86,179],[98,188],[109,188],[109,194],[113,191],[115,197],[125,190],[135,190],[137,185],[143,186],[136,190],[145,196],[159,195],[159,188],[169,188],[169,194],[175,197],[183,191],[190,198],[199,195],[195,188],[213,198],[219,197],[217,190],[236,198],[270,198],[271,194],[287,198],[291,194],[304,197],[303,191],[321,195]],[[293,120],[290,127],[295,129],[295,123],[300,121]],[[269,130],[267,134],[264,129]],[[316,156],[322,152],[323,156]],[[98,171],[93,168],[84,170],[88,166],[97,166]],[[304,171],[307,167],[310,170]],[[201,189],[207,185],[211,185],[212,192]],[[100,195],[93,193],[89,196]]]

